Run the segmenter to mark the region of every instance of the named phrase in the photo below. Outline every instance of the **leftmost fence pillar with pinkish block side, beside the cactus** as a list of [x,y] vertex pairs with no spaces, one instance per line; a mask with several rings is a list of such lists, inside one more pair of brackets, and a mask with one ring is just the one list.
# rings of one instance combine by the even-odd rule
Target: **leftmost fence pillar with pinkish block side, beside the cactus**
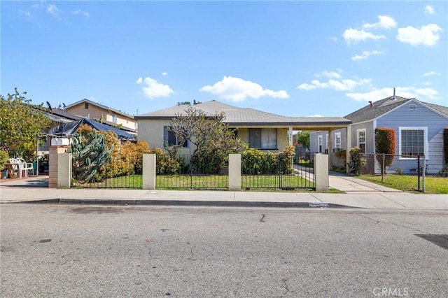
[[48,156],[48,187],[67,188],[71,185],[71,154],[68,146],[50,146]]

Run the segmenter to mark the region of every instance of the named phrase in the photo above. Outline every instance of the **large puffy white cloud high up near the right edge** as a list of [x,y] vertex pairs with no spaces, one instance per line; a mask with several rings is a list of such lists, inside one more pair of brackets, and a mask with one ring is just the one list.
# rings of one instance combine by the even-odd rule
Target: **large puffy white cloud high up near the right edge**
[[410,43],[411,45],[427,45],[432,46],[439,40],[439,31],[442,28],[437,24],[427,24],[421,26],[420,29],[407,26],[406,28],[399,28],[397,39],[402,43]]

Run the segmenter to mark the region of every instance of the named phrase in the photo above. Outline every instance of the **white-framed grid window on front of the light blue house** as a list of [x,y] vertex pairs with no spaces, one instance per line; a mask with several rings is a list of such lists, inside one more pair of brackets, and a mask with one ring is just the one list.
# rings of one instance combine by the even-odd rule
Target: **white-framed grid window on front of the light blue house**
[[400,127],[399,130],[400,158],[416,158],[425,154],[428,146],[426,127]]

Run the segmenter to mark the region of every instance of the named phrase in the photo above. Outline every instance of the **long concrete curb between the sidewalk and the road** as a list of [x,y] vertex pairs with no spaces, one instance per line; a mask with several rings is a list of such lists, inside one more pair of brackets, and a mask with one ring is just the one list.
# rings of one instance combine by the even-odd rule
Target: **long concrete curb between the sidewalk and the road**
[[358,208],[323,202],[286,201],[182,201],[151,199],[43,199],[35,201],[10,201],[3,204],[67,204],[111,206],[210,206],[210,207],[270,207],[270,208]]

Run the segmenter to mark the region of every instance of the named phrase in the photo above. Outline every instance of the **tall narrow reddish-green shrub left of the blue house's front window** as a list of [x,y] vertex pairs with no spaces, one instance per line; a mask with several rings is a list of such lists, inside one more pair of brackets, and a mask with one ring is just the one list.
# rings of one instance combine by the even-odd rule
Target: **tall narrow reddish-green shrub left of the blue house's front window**
[[[375,151],[378,154],[377,160],[381,165],[381,173],[385,173],[386,167],[393,164],[393,155],[395,155],[395,129],[375,129]],[[382,166],[383,164],[384,168]]]

